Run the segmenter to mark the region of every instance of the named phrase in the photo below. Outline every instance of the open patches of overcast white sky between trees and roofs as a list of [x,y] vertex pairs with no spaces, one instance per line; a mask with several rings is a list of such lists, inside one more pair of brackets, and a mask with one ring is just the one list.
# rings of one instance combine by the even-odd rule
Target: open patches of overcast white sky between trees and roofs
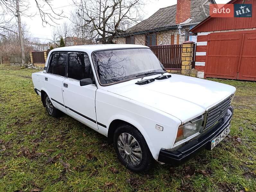
[[[37,9],[35,8],[35,1],[30,1],[30,12],[36,13]],[[215,0],[217,4],[225,4],[229,2],[229,0]],[[75,9],[75,5],[73,0],[52,0],[52,8],[54,8],[54,11],[56,12],[64,12],[64,15],[67,17],[65,19],[59,20],[58,23],[61,24],[64,21],[69,22],[70,18],[70,12],[71,10]],[[146,0],[146,5],[144,8],[145,11],[145,19],[154,14],[158,9],[163,7],[168,7],[173,4],[177,4],[177,0]],[[48,8],[49,9],[49,8]],[[44,9],[43,9],[44,10]],[[23,22],[27,24],[27,27],[29,29],[29,32],[32,37],[38,37],[40,38],[41,43],[49,42],[51,39],[51,30],[53,27],[49,25],[45,25],[45,27],[42,26],[41,18],[39,15],[36,15],[32,18],[21,18]]]

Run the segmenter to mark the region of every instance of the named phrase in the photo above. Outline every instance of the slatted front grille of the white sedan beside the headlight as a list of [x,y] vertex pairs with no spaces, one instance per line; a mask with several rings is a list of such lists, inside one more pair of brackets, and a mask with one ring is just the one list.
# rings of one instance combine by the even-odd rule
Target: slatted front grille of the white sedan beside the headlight
[[220,120],[226,113],[231,104],[233,95],[230,95],[227,99],[221,101],[219,104],[209,109],[206,114],[204,129],[207,129]]

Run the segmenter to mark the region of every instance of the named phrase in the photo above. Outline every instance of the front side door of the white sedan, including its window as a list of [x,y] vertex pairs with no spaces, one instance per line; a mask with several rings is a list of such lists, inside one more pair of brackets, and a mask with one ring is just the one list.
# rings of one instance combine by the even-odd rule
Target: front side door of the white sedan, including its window
[[78,121],[98,130],[95,111],[97,87],[95,83],[80,86],[80,80],[85,78],[94,79],[88,55],[83,52],[69,52],[67,78],[62,87],[66,111]]

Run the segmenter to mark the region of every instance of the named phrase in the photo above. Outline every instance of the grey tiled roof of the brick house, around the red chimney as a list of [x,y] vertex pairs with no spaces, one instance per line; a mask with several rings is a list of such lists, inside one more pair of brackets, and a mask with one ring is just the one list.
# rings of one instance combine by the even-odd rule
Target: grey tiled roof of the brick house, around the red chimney
[[[181,24],[199,23],[209,16],[209,6],[205,5],[207,0],[191,0],[190,2],[190,16],[191,20]],[[215,1],[211,1],[215,3]],[[188,18],[189,19],[189,18]],[[176,20],[176,5],[164,7],[159,9],[148,19],[138,23],[129,28],[126,33],[137,33],[141,31],[161,30],[169,27],[176,28],[178,25]]]

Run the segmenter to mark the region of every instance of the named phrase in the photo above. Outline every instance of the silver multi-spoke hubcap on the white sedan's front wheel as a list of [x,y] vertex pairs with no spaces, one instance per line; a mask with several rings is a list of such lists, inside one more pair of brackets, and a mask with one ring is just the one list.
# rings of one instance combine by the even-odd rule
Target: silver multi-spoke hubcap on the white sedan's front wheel
[[121,133],[118,137],[117,146],[120,155],[131,165],[138,165],[142,159],[142,151],[138,141],[129,133]]

